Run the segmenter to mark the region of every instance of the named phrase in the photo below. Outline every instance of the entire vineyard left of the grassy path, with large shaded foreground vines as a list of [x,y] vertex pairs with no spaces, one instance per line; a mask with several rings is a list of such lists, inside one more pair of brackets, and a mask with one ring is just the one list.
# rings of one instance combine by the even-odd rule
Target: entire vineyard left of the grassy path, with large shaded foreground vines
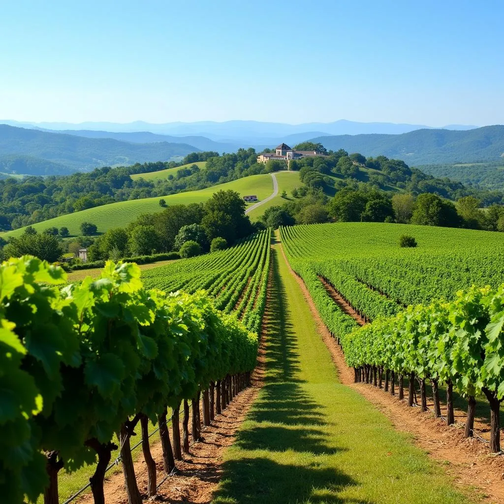
[[[264,231],[225,251],[150,270],[144,283],[128,263],[109,262],[97,279],[64,288],[57,284],[66,274],[37,259],[0,266],[0,389],[11,398],[0,411],[6,501],[35,501],[45,488],[44,501],[57,503],[58,471],[97,459],[90,486],[95,502],[104,502],[105,470],[118,449],[130,502],[141,502],[130,446],[137,425],[155,495],[149,421],[159,425],[169,474],[188,453],[190,416],[198,440],[202,421],[209,425],[249,382],[269,239]],[[184,293],[165,294],[181,287]]]

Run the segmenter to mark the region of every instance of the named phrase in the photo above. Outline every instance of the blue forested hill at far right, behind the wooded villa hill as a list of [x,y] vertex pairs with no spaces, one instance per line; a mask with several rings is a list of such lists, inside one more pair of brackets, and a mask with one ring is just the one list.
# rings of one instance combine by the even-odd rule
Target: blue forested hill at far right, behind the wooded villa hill
[[416,130],[402,135],[340,135],[311,140],[327,149],[384,155],[409,165],[497,161],[504,156],[504,125],[468,131]]

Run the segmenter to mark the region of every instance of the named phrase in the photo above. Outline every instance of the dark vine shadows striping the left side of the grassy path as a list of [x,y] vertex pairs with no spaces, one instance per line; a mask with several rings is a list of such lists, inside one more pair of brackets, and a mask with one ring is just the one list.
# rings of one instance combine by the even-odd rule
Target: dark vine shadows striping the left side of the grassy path
[[[287,292],[279,273],[278,250],[272,250],[273,281],[265,313],[266,372],[264,386],[238,431],[231,460],[212,502],[352,502],[338,493],[358,483],[327,468],[325,455],[341,449],[323,430],[324,408],[304,391],[300,358]],[[257,457],[254,456],[254,451]],[[318,457],[320,456],[320,458]],[[366,501],[359,500],[366,504]],[[371,503],[367,503],[371,504]]]

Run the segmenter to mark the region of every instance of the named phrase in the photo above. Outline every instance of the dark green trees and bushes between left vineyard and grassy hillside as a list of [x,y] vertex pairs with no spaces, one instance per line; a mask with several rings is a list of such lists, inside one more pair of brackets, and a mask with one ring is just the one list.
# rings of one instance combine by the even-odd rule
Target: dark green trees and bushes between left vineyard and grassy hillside
[[77,255],[83,247],[91,262],[170,251],[177,251],[180,257],[193,257],[226,248],[253,233],[257,226],[250,223],[245,207],[238,193],[218,191],[204,204],[173,205],[155,214],[143,214],[127,227],[109,229],[97,237],[89,236],[96,233],[96,225],[83,222],[83,236],[71,241],[61,238],[66,234],[64,228],[37,233],[29,226],[21,236],[4,242],[0,258],[29,254],[55,262],[65,251]]

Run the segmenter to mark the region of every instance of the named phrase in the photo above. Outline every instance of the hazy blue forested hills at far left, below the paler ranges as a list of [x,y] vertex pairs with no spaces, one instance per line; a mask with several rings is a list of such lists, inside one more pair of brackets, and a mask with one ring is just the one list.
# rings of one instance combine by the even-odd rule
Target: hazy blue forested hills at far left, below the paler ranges
[[99,166],[182,158],[196,147],[182,143],[130,143],[84,138],[0,124],[0,172],[69,174]]

